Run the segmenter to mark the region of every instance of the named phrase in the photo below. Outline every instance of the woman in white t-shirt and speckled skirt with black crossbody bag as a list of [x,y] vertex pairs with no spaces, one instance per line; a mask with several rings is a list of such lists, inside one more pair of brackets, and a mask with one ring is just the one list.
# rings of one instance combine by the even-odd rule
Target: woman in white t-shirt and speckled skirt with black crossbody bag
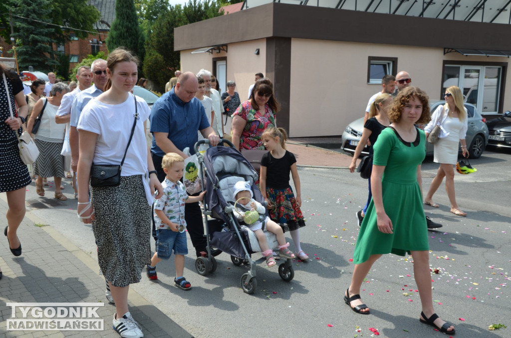
[[[78,215],[84,223],[92,223],[98,262],[115,303],[113,328],[133,337],[143,333],[128,311],[128,288],[140,281],[142,268],[151,261],[152,193],[157,189],[156,197],[162,194],[145,136],[150,109],[143,99],[130,94],[137,80],[137,63],[126,50],[110,53],[105,92],[89,101],[77,126]],[[121,164],[135,120],[121,184],[90,187],[89,202],[91,165]]]

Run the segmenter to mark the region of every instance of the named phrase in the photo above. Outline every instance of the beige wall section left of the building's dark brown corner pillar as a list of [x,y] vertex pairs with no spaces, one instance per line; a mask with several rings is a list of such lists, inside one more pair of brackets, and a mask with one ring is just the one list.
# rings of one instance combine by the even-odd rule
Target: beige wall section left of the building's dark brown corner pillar
[[[259,55],[254,54],[257,48]],[[193,51],[181,51],[181,70],[197,74],[204,68],[213,72],[213,58],[227,57],[226,79],[236,82],[236,91],[242,101],[246,99],[248,87],[254,83],[254,74],[264,74],[266,70],[266,39],[231,43],[227,47],[227,53],[213,51],[213,54],[190,54]]]

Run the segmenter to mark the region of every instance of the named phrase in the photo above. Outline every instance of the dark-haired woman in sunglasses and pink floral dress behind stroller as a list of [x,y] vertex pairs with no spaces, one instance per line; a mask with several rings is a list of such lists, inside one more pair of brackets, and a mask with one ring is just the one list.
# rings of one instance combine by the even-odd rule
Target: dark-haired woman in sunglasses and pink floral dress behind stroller
[[233,144],[236,149],[264,150],[263,131],[276,127],[275,114],[279,109],[271,81],[263,78],[255,82],[250,99],[233,114]]

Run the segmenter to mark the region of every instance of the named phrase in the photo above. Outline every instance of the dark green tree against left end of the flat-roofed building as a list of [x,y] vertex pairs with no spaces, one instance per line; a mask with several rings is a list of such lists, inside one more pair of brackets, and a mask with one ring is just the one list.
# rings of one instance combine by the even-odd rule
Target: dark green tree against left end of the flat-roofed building
[[162,91],[174,76],[174,71],[179,69],[180,54],[174,51],[174,28],[220,15],[223,12],[220,12],[216,1],[190,0],[183,7],[170,6],[167,15],[158,17],[146,39],[144,61],[144,74],[153,81],[158,91]]

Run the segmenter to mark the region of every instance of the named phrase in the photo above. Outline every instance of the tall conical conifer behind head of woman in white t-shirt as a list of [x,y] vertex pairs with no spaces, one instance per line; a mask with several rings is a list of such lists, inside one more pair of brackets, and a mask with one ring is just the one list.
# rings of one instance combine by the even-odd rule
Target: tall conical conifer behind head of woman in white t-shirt
[[109,51],[118,47],[126,47],[141,61],[144,58],[144,36],[138,25],[133,0],[115,1],[115,19],[106,38],[106,46]]

